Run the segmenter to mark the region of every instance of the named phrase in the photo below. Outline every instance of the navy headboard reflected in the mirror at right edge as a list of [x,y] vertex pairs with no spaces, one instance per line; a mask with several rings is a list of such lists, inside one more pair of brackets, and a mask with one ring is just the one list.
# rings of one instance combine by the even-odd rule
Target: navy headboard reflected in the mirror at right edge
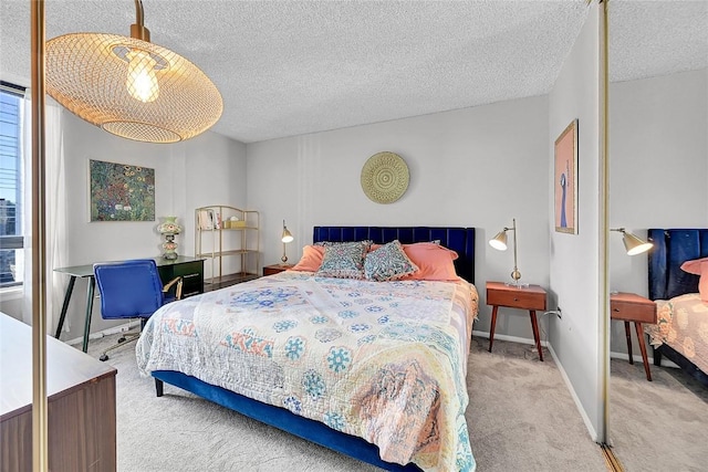
[[649,298],[668,300],[698,293],[698,275],[681,271],[681,264],[708,256],[708,229],[650,229]]

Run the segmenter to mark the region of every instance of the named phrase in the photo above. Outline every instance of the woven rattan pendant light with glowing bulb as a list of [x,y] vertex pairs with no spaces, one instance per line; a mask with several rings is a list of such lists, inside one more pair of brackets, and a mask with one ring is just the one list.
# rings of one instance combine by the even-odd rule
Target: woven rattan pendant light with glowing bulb
[[149,42],[135,0],[131,38],[72,33],[46,42],[46,91],[79,117],[108,133],[176,143],[209,129],[223,102],[191,62]]

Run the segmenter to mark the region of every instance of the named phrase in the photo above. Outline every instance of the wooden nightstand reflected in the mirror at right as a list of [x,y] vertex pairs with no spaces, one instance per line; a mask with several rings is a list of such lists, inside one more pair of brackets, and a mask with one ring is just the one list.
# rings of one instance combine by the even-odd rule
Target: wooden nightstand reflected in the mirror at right
[[629,322],[634,322],[639,350],[642,350],[642,361],[644,363],[646,379],[652,381],[652,371],[649,370],[649,363],[646,358],[646,344],[644,343],[642,323],[656,324],[656,303],[634,293],[613,293],[610,294],[610,317],[624,322],[624,334],[627,338],[629,364],[634,364],[634,359],[632,358],[632,329],[629,329]]

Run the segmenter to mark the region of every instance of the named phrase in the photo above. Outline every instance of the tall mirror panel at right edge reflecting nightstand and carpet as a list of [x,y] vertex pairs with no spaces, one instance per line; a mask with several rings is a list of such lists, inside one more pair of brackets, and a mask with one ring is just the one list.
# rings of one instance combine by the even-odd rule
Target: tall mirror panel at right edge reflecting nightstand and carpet
[[[671,294],[654,293],[648,282],[657,272],[650,258],[666,249],[664,231],[647,233],[708,228],[708,1],[608,7],[610,224],[655,239],[648,256],[629,256],[616,234],[608,239],[610,442],[627,471],[705,470],[708,384],[666,359],[654,365],[646,332],[657,335],[653,342],[678,340],[684,357],[698,365],[702,355],[708,365],[708,304],[693,303],[700,313],[675,310],[666,323],[675,303],[653,298]],[[687,275],[677,271],[671,276]],[[680,334],[689,325],[694,333]]]

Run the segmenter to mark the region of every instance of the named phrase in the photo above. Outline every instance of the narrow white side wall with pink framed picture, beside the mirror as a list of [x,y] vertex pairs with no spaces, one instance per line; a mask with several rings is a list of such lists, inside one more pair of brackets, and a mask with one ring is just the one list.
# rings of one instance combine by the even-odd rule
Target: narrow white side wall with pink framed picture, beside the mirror
[[[551,220],[550,290],[563,308],[551,321],[551,344],[581,403],[593,439],[603,431],[602,359],[600,355],[600,15],[596,3],[565,60],[549,97],[550,150],[575,118],[579,120],[577,234],[554,231],[553,201],[546,200]],[[550,172],[549,172],[550,175]],[[553,177],[546,177],[553,195]],[[600,438],[602,439],[602,438]]]

